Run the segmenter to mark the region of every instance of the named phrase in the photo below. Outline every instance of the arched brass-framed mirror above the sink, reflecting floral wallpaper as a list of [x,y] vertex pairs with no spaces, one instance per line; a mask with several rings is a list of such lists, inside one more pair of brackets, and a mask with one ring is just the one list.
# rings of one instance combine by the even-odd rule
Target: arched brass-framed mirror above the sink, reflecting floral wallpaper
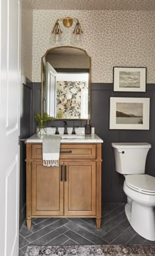
[[83,49],[55,47],[41,59],[41,113],[90,119],[91,58]]

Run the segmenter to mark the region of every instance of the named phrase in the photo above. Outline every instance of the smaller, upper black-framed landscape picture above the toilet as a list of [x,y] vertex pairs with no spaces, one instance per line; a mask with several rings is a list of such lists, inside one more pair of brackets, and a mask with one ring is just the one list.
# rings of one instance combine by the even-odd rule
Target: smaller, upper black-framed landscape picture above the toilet
[[146,91],[146,68],[113,68],[114,91]]

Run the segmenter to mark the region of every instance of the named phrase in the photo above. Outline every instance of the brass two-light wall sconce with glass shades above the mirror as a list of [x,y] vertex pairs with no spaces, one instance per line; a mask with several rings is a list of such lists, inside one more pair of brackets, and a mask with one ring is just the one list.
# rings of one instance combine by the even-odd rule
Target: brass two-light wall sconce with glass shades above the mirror
[[52,32],[53,33],[53,41],[56,44],[62,42],[62,30],[60,28],[59,22],[62,22],[62,24],[66,28],[70,28],[70,27],[72,27],[74,20],[76,21],[76,26],[73,31],[73,35],[74,35],[73,41],[74,42],[81,41],[81,35],[83,34],[83,30],[81,29],[81,25],[79,24],[78,18],[66,17],[66,18],[58,18],[58,20],[56,20],[55,26],[53,28],[53,32]]

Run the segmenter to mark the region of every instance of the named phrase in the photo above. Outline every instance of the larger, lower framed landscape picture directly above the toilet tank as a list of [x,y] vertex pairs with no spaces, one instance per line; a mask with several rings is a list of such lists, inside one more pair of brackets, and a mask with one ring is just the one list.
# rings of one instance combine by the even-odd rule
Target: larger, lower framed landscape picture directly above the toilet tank
[[110,129],[149,130],[150,98],[110,97]]

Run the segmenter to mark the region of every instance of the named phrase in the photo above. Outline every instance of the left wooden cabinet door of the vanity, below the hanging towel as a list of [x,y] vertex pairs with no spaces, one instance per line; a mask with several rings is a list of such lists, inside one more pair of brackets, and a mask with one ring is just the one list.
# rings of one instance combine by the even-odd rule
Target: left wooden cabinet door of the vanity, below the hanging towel
[[63,162],[47,167],[42,161],[32,163],[32,215],[64,215]]

